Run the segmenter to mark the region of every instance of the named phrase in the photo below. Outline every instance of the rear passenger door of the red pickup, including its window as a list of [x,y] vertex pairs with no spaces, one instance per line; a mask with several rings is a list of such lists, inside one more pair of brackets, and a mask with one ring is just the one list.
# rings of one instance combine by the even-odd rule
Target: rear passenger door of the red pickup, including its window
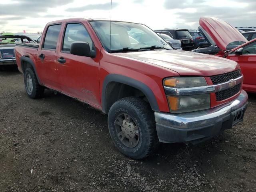
[[42,83],[46,87],[59,91],[57,50],[60,30],[61,24],[48,26],[42,47],[38,50],[37,62],[38,73]]

